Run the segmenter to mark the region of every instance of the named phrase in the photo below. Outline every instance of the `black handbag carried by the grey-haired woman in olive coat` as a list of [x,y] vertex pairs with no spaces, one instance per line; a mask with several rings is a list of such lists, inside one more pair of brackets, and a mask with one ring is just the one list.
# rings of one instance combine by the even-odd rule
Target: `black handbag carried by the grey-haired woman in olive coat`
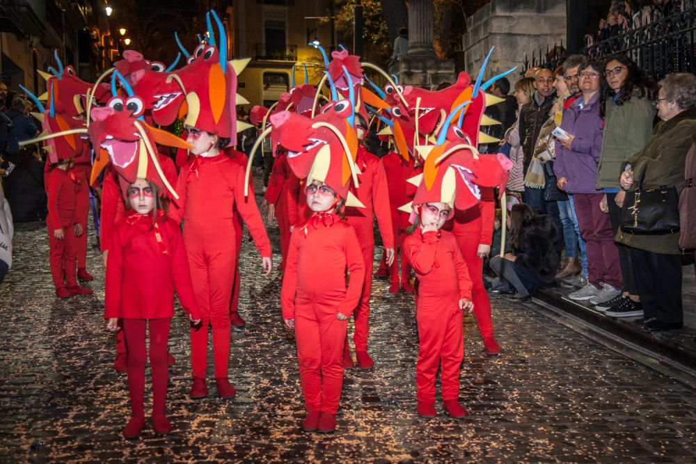
[[674,186],[643,189],[644,169],[635,191],[627,191],[621,209],[621,230],[628,234],[664,235],[679,232],[679,194]]

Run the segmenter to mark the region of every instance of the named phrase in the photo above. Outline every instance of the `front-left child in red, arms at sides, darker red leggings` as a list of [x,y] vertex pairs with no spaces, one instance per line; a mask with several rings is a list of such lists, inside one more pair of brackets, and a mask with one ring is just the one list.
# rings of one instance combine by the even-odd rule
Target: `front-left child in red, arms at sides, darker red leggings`
[[138,438],[145,427],[145,328],[150,330],[152,429],[169,433],[167,340],[174,315],[174,289],[191,323],[200,323],[181,232],[177,223],[167,218],[160,201],[157,187],[147,179],[136,179],[128,186],[127,202],[132,211],[113,229],[106,266],[106,328],[116,332],[118,319],[122,319],[128,345],[132,415],[121,431],[125,438]]

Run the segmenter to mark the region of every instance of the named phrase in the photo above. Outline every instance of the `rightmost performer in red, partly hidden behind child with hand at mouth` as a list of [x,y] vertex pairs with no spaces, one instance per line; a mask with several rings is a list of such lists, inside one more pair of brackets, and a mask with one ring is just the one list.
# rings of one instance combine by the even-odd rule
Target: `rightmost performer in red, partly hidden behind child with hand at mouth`
[[474,316],[483,339],[484,349],[489,355],[500,353],[500,346],[493,335],[491,320],[491,301],[483,285],[483,260],[491,252],[493,240],[493,219],[496,204],[493,189],[481,189],[480,203],[470,209],[457,211],[448,228],[457,239],[473,282],[472,301]]

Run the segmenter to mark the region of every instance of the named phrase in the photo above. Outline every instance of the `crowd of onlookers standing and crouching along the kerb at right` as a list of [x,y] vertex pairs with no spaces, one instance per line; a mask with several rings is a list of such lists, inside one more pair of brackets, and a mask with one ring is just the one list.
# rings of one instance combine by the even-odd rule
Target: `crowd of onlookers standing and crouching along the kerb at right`
[[[649,191],[666,198],[676,190],[677,201],[681,193],[683,205],[694,204],[685,169],[696,163],[696,76],[656,83],[626,56],[574,55],[514,87],[501,79],[493,93],[505,102],[491,116],[517,109],[498,129],[498,151],[514,164],[506,195],[512,250],[491,260],[493,289],[525,297],[557,280],[574,288],[571,300],[610,317],[639,318],[650,331],[681,328],[682,257],[696,248],[694,232],[626,221],[654,207]],[[677,217],[678,208],[667,205]]]

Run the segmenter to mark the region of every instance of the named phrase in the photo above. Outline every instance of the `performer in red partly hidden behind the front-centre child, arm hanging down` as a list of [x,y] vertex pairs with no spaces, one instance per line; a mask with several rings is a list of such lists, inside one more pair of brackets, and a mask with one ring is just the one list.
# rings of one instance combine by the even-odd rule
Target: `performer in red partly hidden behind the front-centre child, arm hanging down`
[[[358,127],[358,138],[361,134]],[[374,261],[374,216],[377,216],[379,232],[381,232],[384,250],[387,255],[386,263],[391,266],[394,261],[394,232],[392,228],[391,208],[389,205],[389,191],[387,177],[379,158],[367,152],[365,147],[358,147],[356,165],[361,175],[358,175],[359,189],[354,194],[360,200],[364,208],[347,207],[345,215],[348,223],[355,227],[358,241],[361,244],[363,260],[365,262],[365,284],[361,295],[360,305],[355,311],[355,343],[356,360],[361,369],[370,369],[374,365],[372,358],[367,354],[367,333],[370,330],[370,296],[372,294],[372,262]],[[348,351],[346,341],[345,365],[353,367],[353,361]]]

